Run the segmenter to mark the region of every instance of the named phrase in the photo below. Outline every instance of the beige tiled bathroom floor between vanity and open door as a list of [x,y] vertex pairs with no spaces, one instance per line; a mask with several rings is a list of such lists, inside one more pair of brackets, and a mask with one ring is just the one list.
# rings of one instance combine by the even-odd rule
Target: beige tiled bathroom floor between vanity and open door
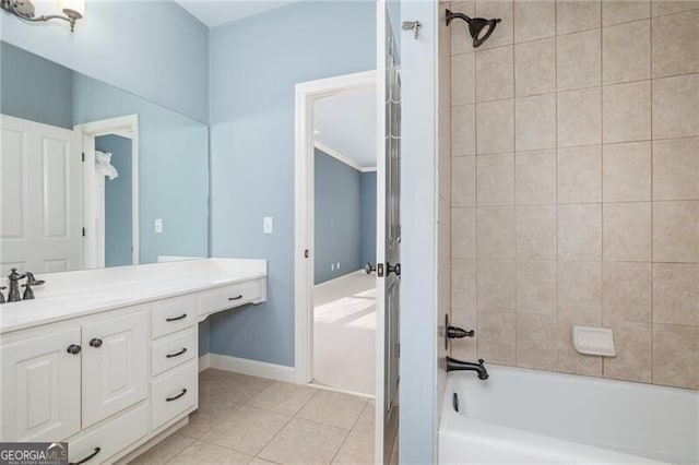
[[374,401],[209,369],[189,425],[132,464],[371,464]]

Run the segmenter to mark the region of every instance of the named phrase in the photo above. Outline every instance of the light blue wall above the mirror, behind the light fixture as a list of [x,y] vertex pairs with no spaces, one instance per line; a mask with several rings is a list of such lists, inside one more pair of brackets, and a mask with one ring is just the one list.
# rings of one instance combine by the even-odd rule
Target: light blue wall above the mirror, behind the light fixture
[[[37,3],[37,14],[56,10],[56,2]],[[62,21],[35,25],[3,13],[0,38],[199,121],[208,119],[209,29],[173,1],[88,1],[73,34]]]

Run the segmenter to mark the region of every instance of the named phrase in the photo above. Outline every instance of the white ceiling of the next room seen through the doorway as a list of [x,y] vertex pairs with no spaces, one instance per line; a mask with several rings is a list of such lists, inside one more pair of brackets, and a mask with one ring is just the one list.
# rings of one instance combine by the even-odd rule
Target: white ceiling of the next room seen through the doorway
[[376,91],[365,90],[318,100],[316,141],[360,168],[376,167]]

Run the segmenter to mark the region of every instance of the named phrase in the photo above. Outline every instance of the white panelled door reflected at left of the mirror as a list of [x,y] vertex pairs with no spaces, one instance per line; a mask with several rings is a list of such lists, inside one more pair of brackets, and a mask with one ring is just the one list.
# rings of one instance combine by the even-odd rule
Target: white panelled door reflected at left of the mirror
[[0,116],[0,273],[82,269],[78,132]]

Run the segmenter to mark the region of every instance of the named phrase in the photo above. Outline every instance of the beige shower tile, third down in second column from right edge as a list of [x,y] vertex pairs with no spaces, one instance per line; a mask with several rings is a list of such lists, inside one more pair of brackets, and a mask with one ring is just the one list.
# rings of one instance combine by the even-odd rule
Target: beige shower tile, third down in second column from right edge
[[651,82],[605,86],[602,111],[605,144],[651,139]]

